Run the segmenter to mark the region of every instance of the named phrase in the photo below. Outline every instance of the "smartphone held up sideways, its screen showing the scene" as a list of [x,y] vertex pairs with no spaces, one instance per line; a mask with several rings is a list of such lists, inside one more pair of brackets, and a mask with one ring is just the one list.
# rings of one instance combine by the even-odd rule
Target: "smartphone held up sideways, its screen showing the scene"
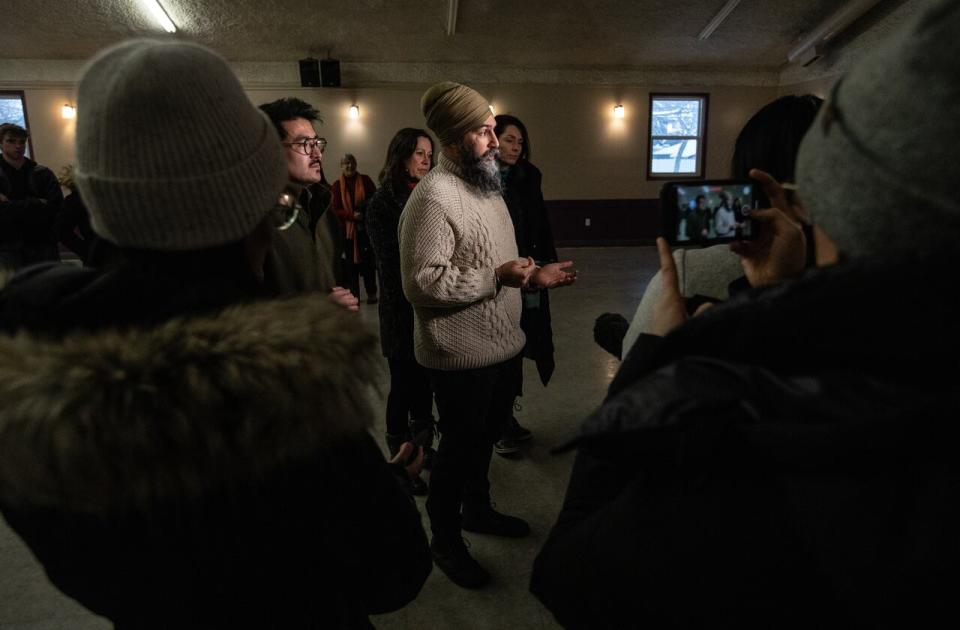
[[660,189],[660,234],[671,245],[706,246],[750,240],[759,224],[757,182],[713,179],[667,182]]

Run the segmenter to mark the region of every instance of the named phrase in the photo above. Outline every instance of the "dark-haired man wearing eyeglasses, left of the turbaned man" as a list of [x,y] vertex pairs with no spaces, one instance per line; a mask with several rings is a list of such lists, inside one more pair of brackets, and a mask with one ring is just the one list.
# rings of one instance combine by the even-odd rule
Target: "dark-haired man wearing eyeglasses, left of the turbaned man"
[[323,186],[323,152],[327,141],[317,135],[314,123],[322,122],[316,109],[298,98],[265,103],[267,114],[284,146],[290,183],[301,188],[301,211],[293,225],[273,240],[264,265],[266,286],[276,295],[307,291],[330,292],[338,304],[358,309],[357,298],[335,286],[333,260],[339,240],[339,223],[327,212],[329,191]]

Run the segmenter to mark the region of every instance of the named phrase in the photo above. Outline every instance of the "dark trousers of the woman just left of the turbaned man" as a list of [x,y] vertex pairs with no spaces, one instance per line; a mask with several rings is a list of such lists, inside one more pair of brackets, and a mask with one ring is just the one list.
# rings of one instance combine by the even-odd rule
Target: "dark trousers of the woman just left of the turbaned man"
[[433,389],[427,369],[413,359],[387,359],[387,433],[416,434],[433,427]]

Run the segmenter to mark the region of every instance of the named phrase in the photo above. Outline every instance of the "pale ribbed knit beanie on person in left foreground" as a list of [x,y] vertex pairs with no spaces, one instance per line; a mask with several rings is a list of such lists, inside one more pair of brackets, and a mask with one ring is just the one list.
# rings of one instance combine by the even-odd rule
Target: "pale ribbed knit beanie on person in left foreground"
[[76,183],[94,231],[117,245],[240,240],[287,182],[273,125],[203,46],[139,39],[100,52],[77,110]]

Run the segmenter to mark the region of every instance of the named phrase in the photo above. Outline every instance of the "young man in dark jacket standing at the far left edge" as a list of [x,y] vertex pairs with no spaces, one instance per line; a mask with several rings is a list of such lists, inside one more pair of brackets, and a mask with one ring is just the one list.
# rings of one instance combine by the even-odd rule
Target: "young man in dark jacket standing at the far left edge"
[[0,269],[60,260],[54,225],[63,192],[53,171],[27,157],[29,137],[0,125]]

